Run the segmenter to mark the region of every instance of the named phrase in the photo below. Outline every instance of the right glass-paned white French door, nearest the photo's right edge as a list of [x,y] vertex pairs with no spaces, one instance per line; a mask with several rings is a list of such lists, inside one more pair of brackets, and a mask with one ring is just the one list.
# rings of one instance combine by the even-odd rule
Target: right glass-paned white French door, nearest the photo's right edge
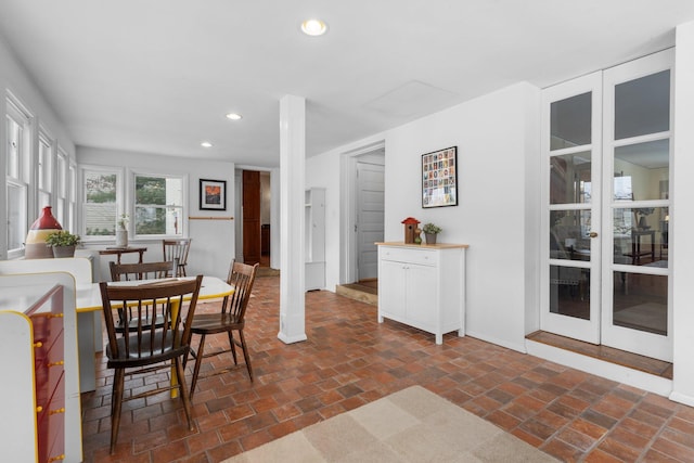
[[672,361],[673,50],[604,73],[602,344]]

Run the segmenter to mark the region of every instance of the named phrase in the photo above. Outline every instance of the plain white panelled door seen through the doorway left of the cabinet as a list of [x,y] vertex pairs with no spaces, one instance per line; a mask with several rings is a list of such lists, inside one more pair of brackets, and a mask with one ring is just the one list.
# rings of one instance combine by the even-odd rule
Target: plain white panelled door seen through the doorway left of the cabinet
[[358,280],[378,276],[378,249],[384,235],[384,166],[357,162]]

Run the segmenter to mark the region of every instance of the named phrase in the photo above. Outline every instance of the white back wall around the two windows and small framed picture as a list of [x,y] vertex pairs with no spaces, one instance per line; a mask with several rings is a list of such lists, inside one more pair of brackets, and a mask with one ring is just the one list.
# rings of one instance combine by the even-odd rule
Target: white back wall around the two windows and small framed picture
[[[191,217],[233,217],[234,215],[234,164],[219,160],[195,159],[192,157],[160,156],[143,153],[100,150],[79,146],[77,150],[79,165],[114,166],[140,171],[157,173],[188,175],[189,196],[188,214]],[[200,209],[200,179],[227,181],[227,210]],[[127,184],[128,182],[126,182]],[[188,258],[188,274],[204,273],[227,278],[229,262],[235,254],[234,221],[233,220],[188,220],[183,223],[185,233],[193,239]],[[157,261],[163,258],[160,240],[132,241],[131,245],[147,247],[145,261]],[[97,242],[87,247],[104,247],[110,242]],[[133,255],[128,255],[131,257]],[[101,259],[101,274],[107,275],[107,263]],[[125,259],[124,259],[125,261]]]

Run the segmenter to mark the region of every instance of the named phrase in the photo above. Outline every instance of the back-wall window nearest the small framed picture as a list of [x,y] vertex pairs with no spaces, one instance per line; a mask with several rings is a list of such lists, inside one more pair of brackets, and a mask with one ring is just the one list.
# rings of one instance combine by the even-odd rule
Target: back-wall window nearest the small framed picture
[[134,175],[134,233],[183,234],[183,177]]

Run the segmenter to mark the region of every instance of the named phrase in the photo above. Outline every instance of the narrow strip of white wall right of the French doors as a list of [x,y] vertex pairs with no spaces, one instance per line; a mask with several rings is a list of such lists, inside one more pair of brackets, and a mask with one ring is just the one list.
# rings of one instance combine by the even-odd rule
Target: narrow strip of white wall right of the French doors
[[[672,262],[672,307],[674,377],[673,400],[694,406],[694,23],[677,28],[674,66],[674,155],[672,159],[672,195],[670,211],[670,246]],[[677,275],[677,280],[676,280]]]

